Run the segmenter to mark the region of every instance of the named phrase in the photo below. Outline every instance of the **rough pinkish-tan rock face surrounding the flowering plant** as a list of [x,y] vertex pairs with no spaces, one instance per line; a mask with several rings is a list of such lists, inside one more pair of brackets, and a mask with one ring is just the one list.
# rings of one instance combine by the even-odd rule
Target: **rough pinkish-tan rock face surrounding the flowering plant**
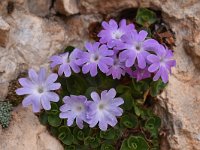
[[[200,149],[199,0],[45,2],[46,5],[39,0],[34,4],[30,0],[0,1],[0,99],[6,97],[9,83],[20,72],[29,67],[48,66],[49,56],[66,45],[82,47],[88,40],[90,23],[101,21],[105,14],[149,7],[162,12],[164,21],[176,36],[177,66],[167,89],[158,97],[158,113],[169,132],[167,150]],[[55,15],[55,12],[62,15]],[[0,129],[0,150],[13,149],[60,150],[62,146],[29,109],[19,106],[13,112],[10,127]],[[161,149],[166,148],[162,146]]]

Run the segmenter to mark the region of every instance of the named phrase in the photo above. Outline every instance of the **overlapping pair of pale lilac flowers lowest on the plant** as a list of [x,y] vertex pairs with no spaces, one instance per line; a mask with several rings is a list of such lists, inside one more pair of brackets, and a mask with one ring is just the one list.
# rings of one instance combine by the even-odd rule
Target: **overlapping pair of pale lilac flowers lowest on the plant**
[[121,116],[123,110],[119,107],[124,103],[120,97],[115,98],[115,89],[105,90],[101,93],[92,92],[93,101],[88,101],[85,96],[65,96],[64,105],[60,107],[60,118],[67,118],[67,125],[71,126],[76,119],[79,128],[83,128],[83,121],[90,127],[96,124],[103,131],[106,131],[108,125],[114,127],[117,124],[116,116]]

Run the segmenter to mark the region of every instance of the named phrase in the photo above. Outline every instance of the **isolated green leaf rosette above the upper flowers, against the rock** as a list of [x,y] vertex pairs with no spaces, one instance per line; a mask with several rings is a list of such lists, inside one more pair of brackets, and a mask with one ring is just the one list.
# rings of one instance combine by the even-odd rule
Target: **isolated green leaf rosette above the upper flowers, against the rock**
[[136,23],[144,27],[149,27],[157,20],[156,14],[146,8],[139,8],[136,15]]

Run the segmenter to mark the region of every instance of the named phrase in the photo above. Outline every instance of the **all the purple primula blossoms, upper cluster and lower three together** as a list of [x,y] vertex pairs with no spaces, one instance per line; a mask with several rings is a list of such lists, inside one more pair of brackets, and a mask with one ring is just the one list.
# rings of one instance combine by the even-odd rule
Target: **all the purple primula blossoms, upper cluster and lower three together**
[[[102,23],[103,29],[99,32],[99,41],[87,42],[85,50],[75,48],[72,52],[65,52],[50,58],[51,68],[58,67],[58,73],[46,75],[46,70],[41,68],[39,73],[30,69],[28,78],[20,78],[19,83],[23,86],[16,90],[18,95],[27,95],[22,104],[24,107],[32,105],[33,112],[41,109],[50,110],[50,102],[58,102],[59,96],[55,90],[61,87],[56,83],[59,76],[64,74],[70,77],[73,73],[89,73],[91,77],[103,72],[113,79],[121,79],[128,74],[140,81],[150,78],[157,81],[159,78],[164,83],[168,82],[171,68],[176,65],[173,53],[166,46],[156,40],[148,38],[144,30],[137,31],[133,24],[127,24],[121,20],[119,25],[114,20]],[[102,89],[101,89],[102,90]],[[81,93],[82,94],[82,93]],[[83,93],[84,94],[84,93]],[[67,119],[67,126],[74,121],[82,129],[83,122],[92,128],[98,124],[99,128],[106,131],[108,125],[114,127],[117,117],[123,110],[119,107],[124,103],[120,97],[116,97],[114,88],[104,90],[99,95],[91,92],[91,99],[84,95],[70,95],[63,98],[59,117]]]

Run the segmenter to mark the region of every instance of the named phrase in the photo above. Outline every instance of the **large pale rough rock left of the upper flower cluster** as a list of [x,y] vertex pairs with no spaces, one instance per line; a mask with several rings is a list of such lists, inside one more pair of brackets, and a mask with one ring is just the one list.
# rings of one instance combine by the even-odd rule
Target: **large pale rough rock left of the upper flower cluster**
[[[49,57],[65,41],[64,26],[58,22],[23,11],[14,11],[6,19],[10,24],[9,43],[6,48],[0,47],[0,84],[4,87],[29,67],[47,66]],[[0,89],[0,97],[5,97],[6,89]]]

